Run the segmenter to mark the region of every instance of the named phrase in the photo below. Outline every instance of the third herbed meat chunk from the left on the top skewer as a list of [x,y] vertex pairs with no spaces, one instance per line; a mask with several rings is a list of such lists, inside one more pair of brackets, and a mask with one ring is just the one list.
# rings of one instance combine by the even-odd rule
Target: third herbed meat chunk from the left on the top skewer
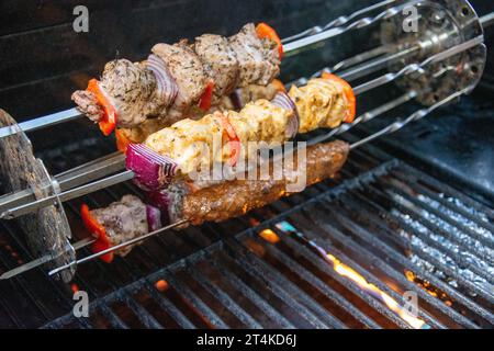
[[214,81],[214,95],[218,98],[231,93],[237,86],[239,65],[227,38],[204,34],[195,38],[193,49],[201,58],[207,76]]

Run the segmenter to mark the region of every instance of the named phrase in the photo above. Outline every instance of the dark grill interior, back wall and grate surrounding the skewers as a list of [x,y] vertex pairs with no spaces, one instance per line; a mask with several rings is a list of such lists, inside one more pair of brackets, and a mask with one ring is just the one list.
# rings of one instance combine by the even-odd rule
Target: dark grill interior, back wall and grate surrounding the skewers
[[[270,0],[252,1],[249,9],[240,1],[228,1],[225,9],[217,1],[124,2],[94,2],[101,5],[94,8],[94,33],[114,35],[75,35],[70,13],[38,30],[34,27],[41,23],[31,23],[34,15],[13,21],[20,23],[24,39],[3,37],[12,49],[1,70],[7,77],[0,91],[2,107],[19,121],[68,107],[75,82],[86,87],[89,77],[115,56],[115,47],[116,56],[137,59],[158,41],[206,31],[229,33],[255,19],[269,19],[285,36],[373,1],[287,5]],[[474,2],[479,9],[486,5]],[[183,21],[198,4],[199,23]],[[105,11],[113,14],[112,21]],[[227,23],[225,13],[231,16]],[[112,23],[115,20],[119,23]],[[172,31],[164,34],[164,21]],[[42,37],[57,45],[38,45],[33,55],[32,43]],[[348,57],[349,46],[363,48],[372,41],[375,37],[351,35],[302,53],[283,64],[282,80],[337,63]],[[29,55],[21,56],[35,60],[29,65],[18,55],[26,49]],[[492,97],[492,64],[487,67],[481,86],[491,89]],[[360,112],[388,101],[395,90],[389,87],[379,97],[362,97]],[[485,131],[492,129],[494,106],[491,99],[479,100],[463,100],[447,110],[447,118],[420,121],[383,143],[352,151],[337,178],[301,194],[240,218],[151,238],[113,264],[82,264],[72,284],[49,279],[43,269],[0,281],[0,328],[492,328],[493,158],[492,150],[485,151],[492,133]],[[378,120],[344,138],[357,140],[390,122]],[[461,143],[456,139],[459,129],[464,132]],[[34,132],[30,138],[52,174],[114,151],[114,140],[103,140],[87,121]],[[126,182],[65,203],[75,239],[87,236],[79,218],[82,202],[92,208],[105,206],[127,193],[142,195]],[[280,240],[265,240],[259,234],[267,229]],[[0,222],[0,273],[33,259],[24,242],[14,222]],[[89,253],[83,249],[79,257]],[[347,275],[339,271],[343,265]],[[360,285],[348,278],[350,273],[358,274]],[[90,318],[72,315],[77,290],[89,293]],[[405,303],[405,292],[417,295],[418,325],[390,308],[392,302]]]

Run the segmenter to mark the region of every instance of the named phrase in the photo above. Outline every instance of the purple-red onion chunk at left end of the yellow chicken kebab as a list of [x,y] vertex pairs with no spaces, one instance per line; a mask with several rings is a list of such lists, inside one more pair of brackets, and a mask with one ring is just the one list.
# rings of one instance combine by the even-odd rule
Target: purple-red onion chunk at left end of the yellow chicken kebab
[[134,183],[143,190],[158,190],[168,186],[178,165],[143,144],[127,147],[125,166],[134,171]]

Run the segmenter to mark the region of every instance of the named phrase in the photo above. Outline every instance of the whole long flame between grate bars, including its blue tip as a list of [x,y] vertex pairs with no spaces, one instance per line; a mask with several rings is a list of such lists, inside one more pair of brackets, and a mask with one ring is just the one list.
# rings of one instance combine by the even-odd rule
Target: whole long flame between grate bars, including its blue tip
[[333,269],[335,272],[337,272],[339,275],[345,276],[352,282],[355,282],[357,285],[359,285],[361,288],[366,290],[367,292],[371,293],[373,296],[380,298],[384,304],[390,307],[391,310],[396,313],[403,320],[405,320],[408,325],[411,325],[413,328],[420,329],[428,327],[424,320],[415,317],[412,315],[408,310],[404,309],[400,304],[390,295],[381,291],[378,286],[374,284],[370,284],[362,275],[360,275],[357,271],[355,271],[352,268],[341,263],[340,260],[338,260],[333,254],[326,252],[321,246],[315,244],[313,240],[310,240],[306,238],[302,233],[296,230],[290,223],[288,222],[280,222],[276,225],[276,227],[287,234],[294,234],[299,238],[301,238],[303,241],[307,242],[311,247],[317,250],[317,252],[326,259],[329,263],[333,264]]

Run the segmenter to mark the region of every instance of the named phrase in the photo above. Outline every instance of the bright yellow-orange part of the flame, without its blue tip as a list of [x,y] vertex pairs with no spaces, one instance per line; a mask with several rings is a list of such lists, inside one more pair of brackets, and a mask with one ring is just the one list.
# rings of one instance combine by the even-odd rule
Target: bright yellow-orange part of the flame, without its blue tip
[[425,321],[413,316],[408,310],[404,309],[400,304],[390,295],[381,291],[374,284],[369,283],[362,275],[357,273],[352,268],[341,263],[336,257],[327,253],[326,258],[333,262],[333,269],[343,276],[348,278],[349,280],[357,283],[360,287],[364,288],[381,297],[381,299],[391,308],[391,310],[395,312],[403,320],[405,320],[413,328],[420,329],[424,327]]

